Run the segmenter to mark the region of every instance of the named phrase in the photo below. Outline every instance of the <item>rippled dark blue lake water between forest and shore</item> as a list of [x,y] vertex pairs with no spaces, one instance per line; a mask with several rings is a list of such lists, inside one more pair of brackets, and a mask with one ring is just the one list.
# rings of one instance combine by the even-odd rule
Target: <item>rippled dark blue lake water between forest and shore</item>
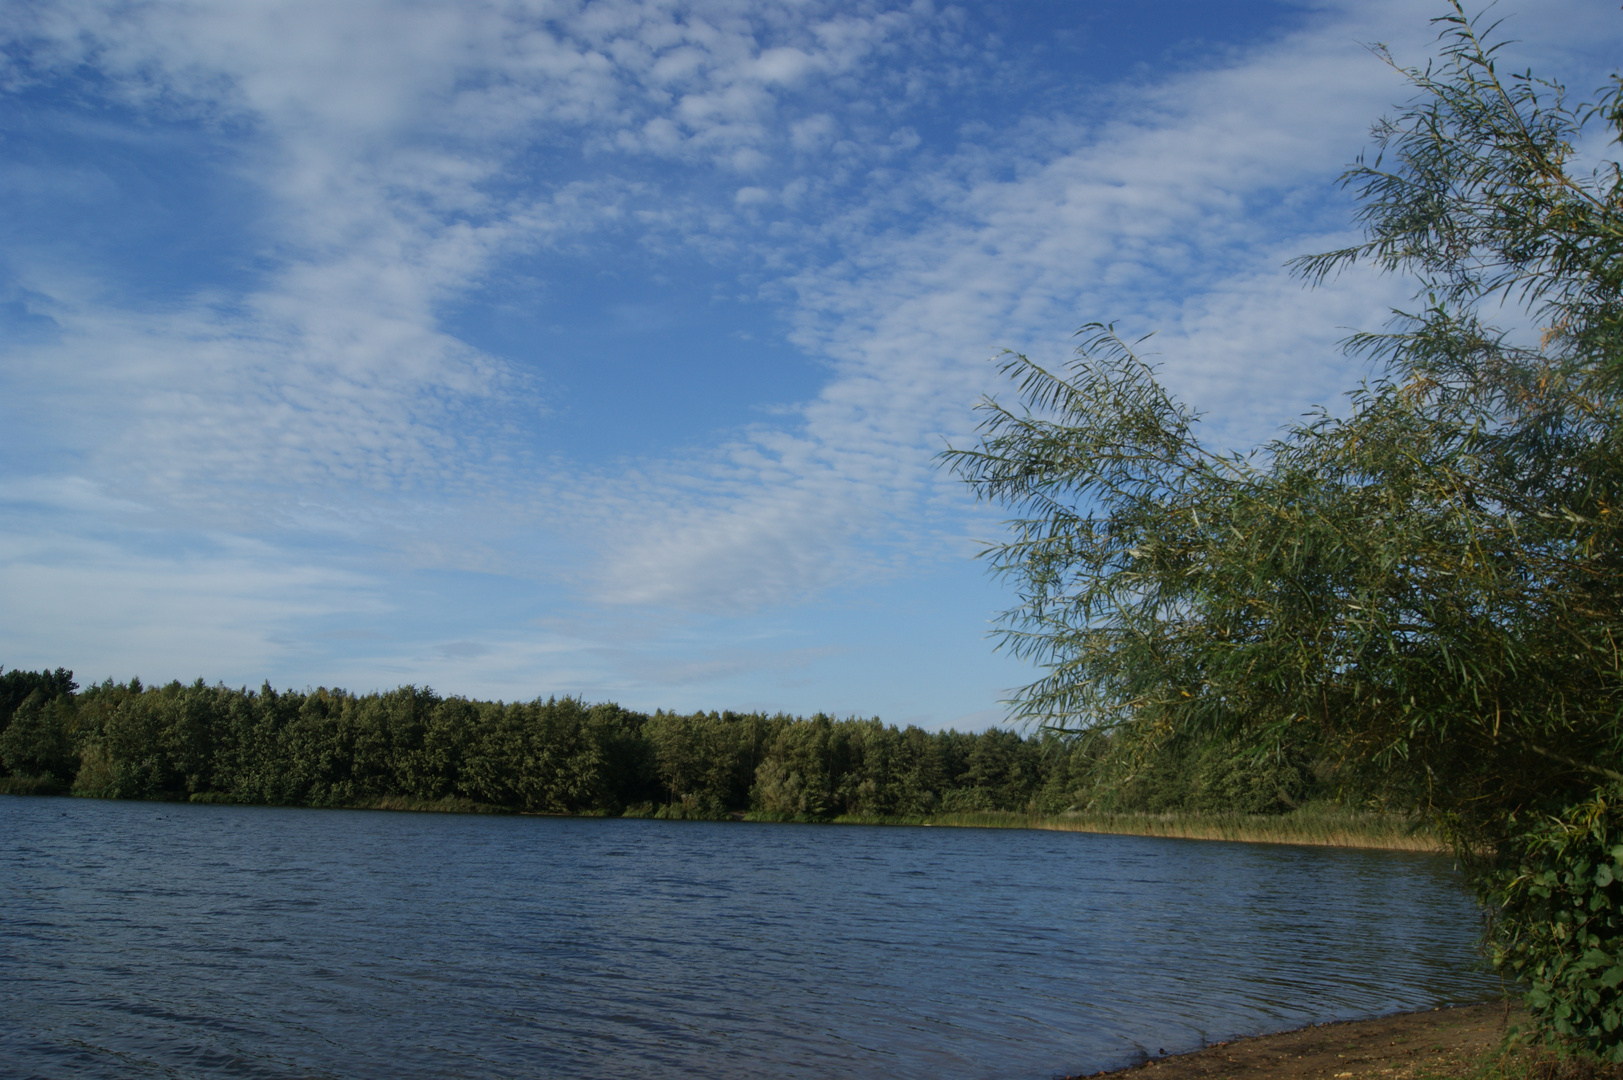
[[1498,991],[1448,859],[0,796],[19,1077],[1044,1078]]

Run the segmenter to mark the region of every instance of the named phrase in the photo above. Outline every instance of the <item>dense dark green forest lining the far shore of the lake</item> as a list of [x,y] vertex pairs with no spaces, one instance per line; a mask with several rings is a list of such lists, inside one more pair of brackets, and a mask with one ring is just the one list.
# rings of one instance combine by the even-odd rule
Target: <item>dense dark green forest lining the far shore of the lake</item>
[[1109,739],[899,729],[878,719],[636,713],[576,698],[476,702],[101,682],[0,672],[5,789],[281,806],[464,802],[540,814],[756,820],[964,810],[1277,814],[1331,791],[1302,755],[1208,744],[1151,760]]

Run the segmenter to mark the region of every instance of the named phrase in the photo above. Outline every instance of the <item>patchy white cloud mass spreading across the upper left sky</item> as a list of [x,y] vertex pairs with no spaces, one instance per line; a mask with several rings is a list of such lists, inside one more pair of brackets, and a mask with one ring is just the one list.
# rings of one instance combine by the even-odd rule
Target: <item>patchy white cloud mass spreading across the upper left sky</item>
[[[265,192],[256,224],[274,237],[247,296],[130,310],[78,268],[18,268],[63,328],[54,348],[18,357],[19,383],[49,398],[73,372],[67,382],[105,388],[88,409],[65,408],[54,437],[120,486],[193,510],[260,487],[487,479],[493,456],[519,453],[503,442],[508,411],[544,401],[513,365],[446,335],[440,310],[500,258],[622,227],[633,205],[654,211],[636,214],[643,227],[716,224],[612,164],[537,185],[518,161],[613,136],[760,172],[789,153],[786,88],[850,70],[928,15],[656,0],[8,11],[0,36],[23,57],[10,84],[91,67],[102,93],[156,119],[248,133],[221,136]],[[750,185],[735,201],[766,198]]]

